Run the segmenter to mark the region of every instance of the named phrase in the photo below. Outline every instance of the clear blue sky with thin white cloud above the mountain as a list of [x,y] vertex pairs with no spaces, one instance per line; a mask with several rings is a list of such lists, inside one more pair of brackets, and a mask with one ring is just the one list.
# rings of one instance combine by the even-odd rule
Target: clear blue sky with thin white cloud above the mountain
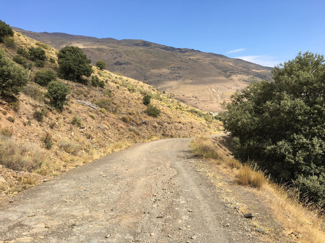
[[325,54],[325,1],[4,1],[0,19],[34,32],[142,39],[273,67]]

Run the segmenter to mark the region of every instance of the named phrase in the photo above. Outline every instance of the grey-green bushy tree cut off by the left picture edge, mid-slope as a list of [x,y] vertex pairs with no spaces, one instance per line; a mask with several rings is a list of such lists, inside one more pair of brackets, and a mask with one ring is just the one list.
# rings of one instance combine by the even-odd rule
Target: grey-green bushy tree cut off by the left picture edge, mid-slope
[[0,50],[0,95],[19,95],[21,87],[27,82],[27,70],[17,66],[4,50]]

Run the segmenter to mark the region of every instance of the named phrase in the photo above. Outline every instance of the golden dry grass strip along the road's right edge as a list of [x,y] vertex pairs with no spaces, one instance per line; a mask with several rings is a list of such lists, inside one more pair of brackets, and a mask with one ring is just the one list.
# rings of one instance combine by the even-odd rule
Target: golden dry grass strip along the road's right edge
[[[227,161],[235,160],[220,153],[225,150],[214,144],[209,138],[198,138],[191,143],[192,151],[204,158],[210,158],[211,154],[217,154],[218,159],[210,159],[213,165],[225,165]],[[219,150],[220,153],[211,152]],[[208,151],[207,153],[204,153]],[[221,159],[220,159],[221,158]],[[237,160],[238,163],[240,163]],[[230,163],[230,162],[228,162]],[[234,163],[234,162],[231,162]],[[291,236],[302,243],[324,243],[325,242],[325,214],[324,211],[312,205],[306,205],[299,202],[299,190],[286,188],[269,181],[265,173],[252,168],[249,165],[243,165],[235,173],[236,182],[240,185],[251,185],[255,188],[263,188],[263,194],[269,195],[266,199],[271,207],[275,218],[281,222],[286,231],[286,235]],[[265,197],[264,197],[265,198]],[[245,205],[243,205],[245,206]],[[292,234],[293,233],[293,234]]]

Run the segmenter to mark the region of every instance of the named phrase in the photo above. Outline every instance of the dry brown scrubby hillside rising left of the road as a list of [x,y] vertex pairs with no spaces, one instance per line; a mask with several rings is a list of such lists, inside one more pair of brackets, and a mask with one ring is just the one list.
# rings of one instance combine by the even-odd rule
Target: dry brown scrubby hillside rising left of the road
[[[16,45],[42,46],[47,58],[42,69],[57,69],[57,50],[15,32]],[[5,49],[9,58],[15,48]],[[18,64],[17,64],[18,65]],[[152,86],[107,70],[93,68],[105,87],[93,87],[61,80],[71,87],[69,105],[62,112],[44,99],[46,88],[33,81],[23,88],[18,100],[0,98],[0,191],[15,194],[70,168],[92,161],[133,143],[167,137],[213,134],[221,123],[200,117],[199,110],[162,94]],[[143,97],[151,94],[151,104],[161,110],[158,117],[146,113]],[[36,121],[35,110],[43,110]],[[10,118],[11,117],[11,118]],[[74,124],[73,124],[74,123]],[[53,144],[45,149],[46,142]]]

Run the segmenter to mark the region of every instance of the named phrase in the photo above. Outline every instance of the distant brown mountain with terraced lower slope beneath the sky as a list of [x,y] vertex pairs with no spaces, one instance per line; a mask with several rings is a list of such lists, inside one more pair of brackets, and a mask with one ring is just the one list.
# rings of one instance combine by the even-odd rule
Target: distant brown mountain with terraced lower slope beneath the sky
[[78,46],[93,64],[104,60],[110,71],[145,81],[161,92],[173,94],[178,100],[206,111],[220,111],[220,102],[236,90],[272,77],[269,67],[188,48],[143,40],[15,30],[56,49]]

